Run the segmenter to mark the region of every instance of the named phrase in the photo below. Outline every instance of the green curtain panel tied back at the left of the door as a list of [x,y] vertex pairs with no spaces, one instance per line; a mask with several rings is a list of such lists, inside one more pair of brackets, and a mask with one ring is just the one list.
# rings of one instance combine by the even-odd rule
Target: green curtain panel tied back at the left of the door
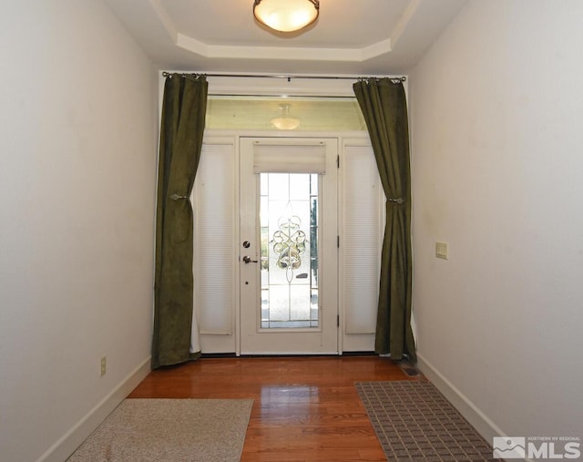
[[207,109],[205,77],[170,74],[160,123],[152,368],[191,359],[192,206]]

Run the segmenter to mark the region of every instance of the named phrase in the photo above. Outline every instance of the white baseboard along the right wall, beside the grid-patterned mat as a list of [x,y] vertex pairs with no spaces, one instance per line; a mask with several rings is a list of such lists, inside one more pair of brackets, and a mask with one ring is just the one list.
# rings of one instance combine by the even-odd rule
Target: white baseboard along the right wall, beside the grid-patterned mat
[[488,444],[492,444],[494,436],[504,436],[505,433],[486,414],[472,403],[467,396],[455,388],[444,375],[442,375],[433,364],[417,354],[417,367],[435,385],[442,395],[454,405],[454,407],[465,417],[477,432],[486,439]]

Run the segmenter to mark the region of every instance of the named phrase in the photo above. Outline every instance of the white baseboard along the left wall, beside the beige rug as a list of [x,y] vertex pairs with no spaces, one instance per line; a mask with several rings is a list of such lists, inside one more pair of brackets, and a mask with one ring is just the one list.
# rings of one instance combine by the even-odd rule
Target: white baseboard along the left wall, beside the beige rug
[[63,462],[71,456],[77,447],[87,439],[87,436],[91,435],[119,403],[146,378],[151,370],[150,361],[151,358],[148,357],[142,364],[139,364],[109,395],[81,418],[64,436],[59,438],[52,447],[49,447],[36,462]]

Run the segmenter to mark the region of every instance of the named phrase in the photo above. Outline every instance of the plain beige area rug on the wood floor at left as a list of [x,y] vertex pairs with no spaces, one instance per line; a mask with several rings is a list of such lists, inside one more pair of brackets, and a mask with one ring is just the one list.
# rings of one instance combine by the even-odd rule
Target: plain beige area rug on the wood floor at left
[[252,399],[126,399],[69,462],[237,461]]

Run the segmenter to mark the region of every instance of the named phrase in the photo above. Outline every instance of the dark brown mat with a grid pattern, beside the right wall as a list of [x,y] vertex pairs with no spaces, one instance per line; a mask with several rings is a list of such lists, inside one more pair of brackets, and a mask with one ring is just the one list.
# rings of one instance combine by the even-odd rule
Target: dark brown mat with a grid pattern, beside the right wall
[[356,382],[387,459],[492,461],[492,447],[426,380]]

